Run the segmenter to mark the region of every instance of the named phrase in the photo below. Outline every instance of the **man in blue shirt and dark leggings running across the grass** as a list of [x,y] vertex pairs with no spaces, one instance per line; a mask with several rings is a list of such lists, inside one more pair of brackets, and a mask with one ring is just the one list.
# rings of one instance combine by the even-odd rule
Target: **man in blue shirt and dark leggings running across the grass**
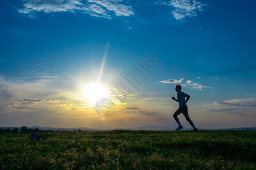
[[[186,120],[193,127],[193,132],[197,132],[198,129],[196,128],[196,126],[193,124],[192,120],[188,116],[188,106],[187,106],[186,103],[188,102],[190,96],[185,94],[184,92],[180,91],[181,86],[179,84],[176,85],[175,90],[177,92],[177,99],[175,99],[175,97],[172,96],[172,100],[175,100],[175,101],[179,102],[179,109],[177,109],[177,111],[174,113],[174,119],[177,122],[177,124],[179,124],[179,127],[176,130],[183,129],[183,126],[181,126],[181,124],[180,124],[179,118],[177,118],[177,116],[180,113],[183,113]],[[185,97],[186,97],[186,100],[185,100]]]

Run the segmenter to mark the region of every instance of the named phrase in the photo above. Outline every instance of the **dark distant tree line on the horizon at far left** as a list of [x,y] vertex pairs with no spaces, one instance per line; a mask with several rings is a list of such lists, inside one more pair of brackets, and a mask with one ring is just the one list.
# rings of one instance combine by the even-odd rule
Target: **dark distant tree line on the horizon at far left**
[[22,128],[18,129],[18,128],[14,128],[14,129],[2,129],[0,128],[0,134],[2,133],[43,133],[43,132],[55,132],[53,130],[40,130],[39,128],[36,129],[32,129],[32,128],[28,128],[26,126],[22,126]]

